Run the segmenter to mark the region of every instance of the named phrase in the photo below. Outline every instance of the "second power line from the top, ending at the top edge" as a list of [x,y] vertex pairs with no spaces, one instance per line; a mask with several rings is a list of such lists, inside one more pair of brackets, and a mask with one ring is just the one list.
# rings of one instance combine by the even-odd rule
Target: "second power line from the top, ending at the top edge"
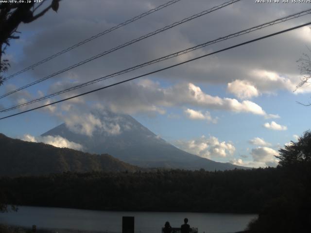
[[210,13],[210,12],[219,10],[219,9],[221,9],[221,8],[223,8],[223,7],[225,7],[225,6],[228,6],[228,5],[230,5],[230,4],[233,4],[233,3],[237,2],[237,1],[240,1],[240,0],[230,0],[230,1],[227,1],[227,2],[225,2],[225,3],[222,3],[222,4],[218,5],[218,6],[214,6],[214,7],[210,8],[210,9],[208,9],[208,10],[206,10],[206,11],[203,11],[203,12],[198,13],[198,14],[195,14],[195,15],[193,15],[193,16],[184,18],[184,19],[182,19],[182,20],[180,20],[180,21],[177,21],[177,22],[174,22],[174,23],[172,23],[172,24],[170,24],[170,25],[168,25],[168,26],[165,26],[165,27],[163,27],[163,28],[161,28],[161,29],[155,30],[154,32],[151,32],[151,33],[145,34],[145,35],[143,35],[143,36],[140,36],[140,37],[138,37],[138,38],[136,38],[136,39],[134,39],[134,40],[131,40],[131,41],[128,41],[128,42],[126,42],[126,43],[124,43],[124,44],[122,44],[122,45],[119,45],[119,46],[117,46],[117,47],[115,47],[115,48],[113,48],[113,49],[110,49],[110,50],[104,51],[104,52],[102,52],[102,53],[99,53],[99,54],[97,54],[97,55],[95,55],[95,56],[93,56],[93,57],[90,57],[90,58],[88,58],[88,59],[86,59],[86,60],[84,60],[84,61],[81,61],[81,62],[76,63],[76,64],[74,64],[74,65],[72,65],[72,66],[70,66],[70,67],[67,67],[67,68],[62,69],[62,70],[59,70],[59,71],[57,71],[57,72],[55,72],[55,73],[52,73],[51,75],[48,75],[48,76],[46,76],[46,77],[44,77],[44,78],[41,78],[41,79],[39,79],[39,80],[36,80],[35,82],[29,83],[29,84],[27,84],[27,85],[24,85],[24,86],[22,86],[22,87],[17,88],[16,90],[10,91],[10,92],[8,92],[8,93],[6,93],[6,94],[0,96],[0,99],[4,98],[4,97],[6,97],[6,96],[9,96],[9,95],[11,95],[11,94],[13,94],[13,93],[15,93],[15,92],[17,92],[17,91],[23,90],[23,89],[25,89],[25,88],[27,88],[27,87],[33,86],[33,85],[35,85],[35,84],[37,84],[37,83],[40,83],[40,82],[42,82],[42,81],[45,81],[45,80],[47,80],[47,79],[49,79],[49,78],[52,78],[52,77],[55,76],[55,75],[64,73],[65,71],[68,71],[68,70],[73,69],[73,68],[75,68],[75,67],[79,67],[79,66],[81,66],[81,65],[84,65],[84,64],[86,64],[86,63],[88,63],[88,62],[90,62],[90,61],[93,61],[93,60],[95,60],[95,59],[97,59],[97,58],[100,58],[100,57],[102,57],[102,56],[104,56],[104,55],[106,55],[106,54],[109,54],[109,53],[113,52],[113,51],[120,50],[120,49],[122,49],[122,48],[124,48],[124,47],[126,47],[126,46],[129,46],[129,45],[131,45],[131,44],[134,44],[134,43],[136,43],[136,42],[138,42],[138,41],[140,41],[140,40],[146,39],[146,38],[148,38],[148,37],[150,37],[150,36],[153,36],[153,35],[155,35],[155,34],[157,34],[157,33],[161,33],[161,32],[163,32],[163,31],[166,31],[166,30],[168,30],[168,29],[171,29],[171,28],[173,28],[173,27],[176,27],[176,26],[179,25],[179,24],[188,22],[188,21],[190,21],[190,20],[192,20],[192,19],[195,19],[195,18],[197,18],[197,17],[204,16],[204,15]]

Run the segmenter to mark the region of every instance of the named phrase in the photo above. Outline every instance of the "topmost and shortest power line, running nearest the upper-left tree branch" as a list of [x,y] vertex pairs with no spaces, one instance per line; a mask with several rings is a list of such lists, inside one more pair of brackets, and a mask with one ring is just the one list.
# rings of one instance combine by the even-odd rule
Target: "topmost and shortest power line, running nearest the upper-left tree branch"
[[39,61],[39,62],[37,62],[37,63],[31,65],[31,66],[29,66],[29,67],[26,67],[26,68],[24,68],[24,69],[22,69],[22,70],[20,70],[20,71],[18,71],[18,72],[16,72],[16,73],[14,73],[14,74],[11,74],[10,76],[4,78],[3,81],[9,80],[9,79],[11,79],[11,78],[17,76],[18,74],[24,73],[25,71],[27,71],[27,70],[29,70],[29,69],[33,69],[34,67],[37,67],[37,66],[39,66],[39,65],[41,65],[41,64],[43,64],[43,63],[46,63],[46,62],[52,60],[53,58],[60,56],[61,54],[64,54],[64,53],[66,53],[66,52],[68,52],[68,51],[70,51],[70,50],[73,50],[73,49],[75,49],[75,48],[81,46],[81,45],[84,45],[84,44],[86,44],[87,42],[90,42],[90,41],[92,41],[92,40],[94,40],[94,39],[96,39],[96,38],[98,38],[98,37],[100,37],[100,36],[103,36],[104,34],[111,33],[112,31],[114,31],[114,30],[116,30],[116,29],[118,29],[118,28],[121,28],[121,27],[123,27],[123,26],[125,26],[125,25],[127,25],[127,24],[130,24],[130,23],[132,23],[132,22],[134,22],[134,21],[136,21],[136,20],[138,20],[138,19],[140,19],[140,18],[143,18],[143,17],[145,17],[145,16],[148,16],[148,15],[150,15],[150,14],[156,12],[156,11],[159,11],[159,10],[161,10],[161,9],[167,7],[167,6],[170,6],[170,5],[172,5],[172,4],[174,4],[174,3],[178,2],[178,1],[180,1],[180,0],[171,0],[171,1],[168,1],[168,2],[166,2],[165,4],[162,4],[162,5],[160,5],[160,6],[157,6],[157,7],[155,7],[154,9],[151,9],[151,10],[149,10],[149,11],[147,11],[147,12],[144,12],[144,13],[142,13],[142,14],[136,16],[136,17],[133,17],[133,18],[131,18],[131,19],[128,19],[128,20],[126,20],[126,21],[123,22],[123,23],[120,23],[120,24],[118,24],[118,25],[116,25],[116,26],[114,26],[114,27],[111,27],[111,28],[105,30],[104,32],[101,32],[101,33],[98,33],[98,34],[96,34],[96,35],[93,35],[93,36],[91,36],[91,37],[89,37],[89,38],[87,38],[87,39],[85,39],[85,40],[83,40],[83,41],[80,41],[79,43],[77,43],[77,44],[75,44],[75,45],[73,45],[73,46],[71,46],[71,47],[69,47],[69,48],[67,48],[67,49],[65,49],[65,50],[61,50],[61,51],[59,51],[59,52],[57,52],[57,53],[51,55],[50,57],[47,57],[47,58],[45,58],[45,59],[43,59],[43,60],[41,60],[41,61]]

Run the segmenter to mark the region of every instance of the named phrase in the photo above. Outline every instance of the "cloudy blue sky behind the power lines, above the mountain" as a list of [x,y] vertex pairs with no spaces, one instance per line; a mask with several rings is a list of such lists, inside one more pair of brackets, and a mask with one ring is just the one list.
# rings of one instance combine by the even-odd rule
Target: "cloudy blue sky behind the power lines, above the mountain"
[[[89,2],[86,5],[82,0],[62,1],[57,14],[51,11],[40,20],[20,25],[20,39],[12,41],[6,51],[12,66],[8,74],[163,4],[165,0]],[[0,94],[217,4],[220,1],[196,0],[191,3],[181,0],[12,78],[0,87]],[[304,3],[256,4],[241,0],[24,89],[0,100],[0,105],[8,107],[31,100],[308,7],[310,5]],[[280,23],[76,90],[69,95],[54,97],[51,101],[307,23],[308,20],[310,15]],[[89,116],[91,109],[100,106],[130,114],[163,139],[199,156],[243,166],[276,166],[274,155],[277,155],[277,150],[285,143],[297,140],[296,135],[310,128],[311,107],[296,101],[308,103],[311,87],[305,86],[293,92],[301,78],[296,61],[303,53],[309,52],[307,46],[311,46],[310,42],[311,30],[304,27],[77,100],[0,120],[0,132],[14,138],[25,138],[26,134],[39,138],[40,134],[63,122],[96,127],[91,124],[86,126],[85,122],[72,116]],[[0,116],[9,113],[1,113]],[[92,132],[93,128],[89,130]]]

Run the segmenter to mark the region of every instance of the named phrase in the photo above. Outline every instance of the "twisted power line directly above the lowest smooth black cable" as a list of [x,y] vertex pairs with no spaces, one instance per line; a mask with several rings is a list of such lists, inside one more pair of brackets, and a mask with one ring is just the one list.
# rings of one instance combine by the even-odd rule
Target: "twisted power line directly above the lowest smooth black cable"
[[60,95],[60,94],[63,94],[63,93],[67,93],[69,91],[73,91],[73,90],[82,88],[82,87],[87,86],[87,85],[91,85],[91,84],[94,84],[94,83],[97,83],[97,82],[100,82],[100,81],[103,81],[103,80],[106,80],[106,79],[109,79],[109,78],[112,78],[112,77],[115,77],[115,76],[119,76],[119,75],[124,74],[124,73],[128,73],[128,72],[136,70],[138,68],[149,66],[149,65],[152,65],[152,64],[155,64],[155,63],[158,63],[158,62],[161,62],[161,61],[173,58],[173,57],[177,57],[177,56],[185,54],[185,53],[188,53],[190,51],[194,51],[194,50],[198,50],[198,49],[204,48],[204,47],[206,47],[208,45],[215,44],[215,43],[218,43],[220,41],[224,41],[224,40],[227,40],[227,39],[230,39],[230,38],[233,38],[233,37],[237,37],[237,36],[240,36],[242,34],[254,32],[254,31],[257,31],[259,29],[262,29],[262,28],[265,28],[265,27],[268,27],[268,26],[272,26],[272,25],[275,25],[277,23],[284,22],[284,21],[287,21],[287,20],[290,20],[290,19],[293,19],[293,18],[302,17],[302,16],[310,14],[310,13],[311,13],[311,9],[308,9],[308,10],[305,10],[305,11],[301,11],[301,12],[298,12],[298,13],[286,16],[286,17],[281,17],[281,18],[278,18],[276,20],[273,20],[273,21],[270,21],[270,22],[266,22],[266,23],[260,24],[258,26],[255,26],[255,27],[245,29],[245,30],[240,31],[238,33],[232,33],[232,34],[220,37],[218,39],[215,39],[215,40],[212,40],[212,41],[208,41],[206,43],[203,43],[203,44],[200,44],[200,45],[188,48],[186,50],[181,50],[181,51],[178,51],[178,52],[175,52],[175,53],[172,53],[172,54],[169,54],[169,55],[166,55],[166,56],[154,59],[152,61],[139,64],[139,65],[137,65],[135,67],[130,67],[130,68],[127,68],[127,69],[115,72],[113,74],[106,75],[104,77],[101,77],[101,78],[98,78],[98,79],[95,79],[95,80],[92,80],[92,81],[89,81],[89,82],[86,82],[86,83],[81,83],[79,85],[75,85],[73,87],[69,87],[67,89],[64,89],[64,90],[61,90],[61,91],[58,91],[58,92],[55,92],[55,93],[52,93],[52,94],[49,94],[49,95],[45,95],[45,96],[40,97],[40,98],[35,98],[33,100],[29,100],[27,102],[19,103],[19,104],[13,105],[13,106],[8,107],[8,108],[3,108],[3,109],[0,110],[0,112],[8,112],[8,111],[11,111],[11,110],[14,110],[14,109],[17,109],[17,108],[20,108],[20,107],[23,107],[23,106],[35,103],[35,102],[38,102],[40,100],[46,100],[46,99],[49,99],[51,97],[54,97],[54,96],[57,96],[57,95]]

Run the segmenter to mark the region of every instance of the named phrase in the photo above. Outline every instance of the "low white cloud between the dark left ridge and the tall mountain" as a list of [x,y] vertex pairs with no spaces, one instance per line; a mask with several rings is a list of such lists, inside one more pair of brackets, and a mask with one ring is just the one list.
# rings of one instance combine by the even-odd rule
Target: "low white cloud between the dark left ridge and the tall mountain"
[[74,150],[83,150],[82,145],[79,143],[71,142],[67,140],[66,138],[63,138],[61,136],[39,136],[35,137],[30,134],[25,134],[22,140],[27,142],[43,142],[45,144],[52,145],[54,147],[59,148],[70,148]]

